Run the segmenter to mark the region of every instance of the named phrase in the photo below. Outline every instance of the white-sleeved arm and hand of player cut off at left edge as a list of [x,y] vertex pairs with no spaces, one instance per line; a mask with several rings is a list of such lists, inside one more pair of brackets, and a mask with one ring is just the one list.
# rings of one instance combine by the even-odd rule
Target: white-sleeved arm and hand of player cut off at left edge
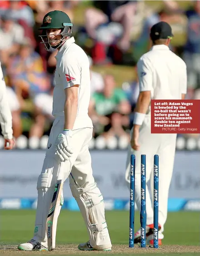
[[4,136],[5,150],[13,149],[15,141],[13,140],[12,115],[7,100],[6,85],[0,63],[0,125]]

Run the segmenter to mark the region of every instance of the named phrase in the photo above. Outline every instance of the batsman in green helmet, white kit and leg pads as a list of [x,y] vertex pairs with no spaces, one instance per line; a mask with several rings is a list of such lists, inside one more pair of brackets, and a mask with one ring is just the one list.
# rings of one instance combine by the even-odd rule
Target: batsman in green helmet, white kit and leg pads
[[57,179],[65,181],[69,177],[72,195],[79,205],[90,238],[78,248],[83,251],[111,251],[103,196],[92,175],[88,148],[93,131],[88,116],[89,60],[85,52],[75,44],[74,37],[71,37],[72,26],[67,14],[54,10],[45,15],[40,28],[46,49],[52,47],[59,50],[55,56],[52,113],[55,121],[37,182],[34,236],[29,242],[20,244],[20,250],[47,251],[46,220],[55,184]]

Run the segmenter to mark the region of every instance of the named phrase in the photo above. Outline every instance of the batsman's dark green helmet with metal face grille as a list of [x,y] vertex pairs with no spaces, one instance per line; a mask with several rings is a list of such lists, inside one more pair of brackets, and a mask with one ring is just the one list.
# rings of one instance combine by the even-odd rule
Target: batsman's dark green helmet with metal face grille
[[[40,35],[42,42],[45,44],[46,50],[50,50],[50,47],[57,49],[60,45],[62,45],[67,37],[71,36],[72,34],[72,26],[70,17],[63,11],[60,10],[53,10],[48,12],[42,22],[41,27],[39,28],[42,30],[42,33]],[[47,36],[46,30],[47,29],[61,29],[60,34],[61,35],[61,41],[59,44],[55,46],[51,46],[50,42],[52,41],[58,41],[58,40],[50,40]]]

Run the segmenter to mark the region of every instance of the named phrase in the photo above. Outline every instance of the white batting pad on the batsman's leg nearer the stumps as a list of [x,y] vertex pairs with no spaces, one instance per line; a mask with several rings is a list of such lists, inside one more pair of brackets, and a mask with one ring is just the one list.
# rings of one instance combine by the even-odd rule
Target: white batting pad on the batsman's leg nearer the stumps
[[85,220],[91,246],[95,249],[110,248],[112,245],[105,221],[104,200],[96,183],[85,188],[70,184],[70,189]]

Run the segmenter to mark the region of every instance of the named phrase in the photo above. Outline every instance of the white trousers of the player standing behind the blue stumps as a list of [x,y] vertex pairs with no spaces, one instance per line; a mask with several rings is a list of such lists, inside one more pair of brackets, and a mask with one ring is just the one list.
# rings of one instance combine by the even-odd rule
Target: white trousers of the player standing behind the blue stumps
[[[154,155],[159,156],[159,239],[163,239],[164,225],[167,219],[167,202],[170,182],[174,166],[176,134],[151,134],[150,115],[145,117],[140,127],[140,150],[128,148],[126,160],[125,180],[130,190],[130,155],[135,155],[135,203],[140,211],[141,202],[141,155],[146,155],[146,183],[150,181],[150,188],[146,185],[146,216],[147,225],[153,224],[153,176]],[[131,130],[132,136],[132,130]],[[151,191],[151,197],[150,192]]]

